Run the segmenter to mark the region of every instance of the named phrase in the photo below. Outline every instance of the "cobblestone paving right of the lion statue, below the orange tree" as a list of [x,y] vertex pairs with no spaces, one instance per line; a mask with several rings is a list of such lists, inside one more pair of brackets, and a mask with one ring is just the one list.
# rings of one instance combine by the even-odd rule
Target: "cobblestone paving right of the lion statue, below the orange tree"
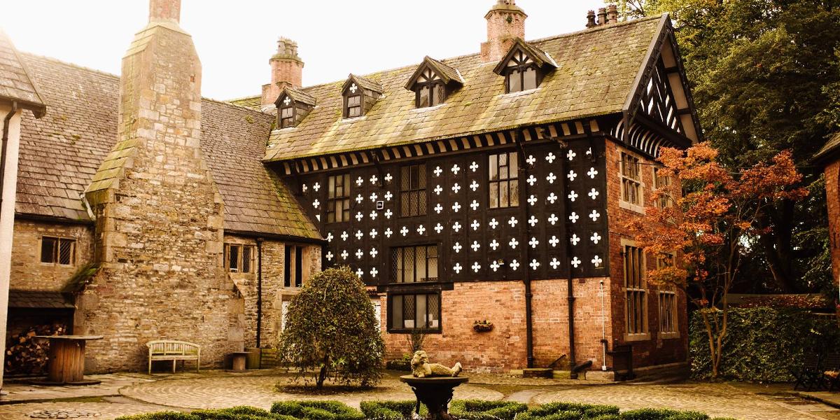
[[836,409],[823,404],[763,394],[748,387],[727,384],[626,384],[547,391],[533,397],[532,402],[613,404],[622,407],[622,410],[675,408],[706,412],[712,417],[735,417],[742,420],[840,418]]

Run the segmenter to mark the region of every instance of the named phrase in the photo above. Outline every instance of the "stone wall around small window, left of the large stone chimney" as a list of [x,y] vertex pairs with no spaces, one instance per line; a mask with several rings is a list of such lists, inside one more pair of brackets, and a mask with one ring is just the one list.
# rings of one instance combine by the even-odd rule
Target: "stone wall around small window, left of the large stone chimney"
[[[41,262],[41,238],[48,236],[76,239],[73,265]],[[14,221],[12,274],[10,288],[16,290],[60,291],[83,266],[93,261],[93,228],[86,224]]]

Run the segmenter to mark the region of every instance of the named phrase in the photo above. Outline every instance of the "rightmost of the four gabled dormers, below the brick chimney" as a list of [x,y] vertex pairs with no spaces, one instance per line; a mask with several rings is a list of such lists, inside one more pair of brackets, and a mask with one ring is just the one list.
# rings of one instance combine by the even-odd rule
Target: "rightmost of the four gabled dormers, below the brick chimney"
[[557,63],[548,53],[517,38],[493,72],[505,77],[505,92],[511,93],[536,89],[545,75],[556,68]]

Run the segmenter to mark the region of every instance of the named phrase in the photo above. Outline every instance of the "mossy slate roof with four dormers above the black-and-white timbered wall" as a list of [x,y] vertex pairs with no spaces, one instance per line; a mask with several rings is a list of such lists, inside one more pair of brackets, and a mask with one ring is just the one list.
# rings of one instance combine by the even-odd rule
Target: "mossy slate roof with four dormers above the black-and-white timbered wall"
[[405,84],[417,66],[365,76],[383,87],[384,97],[362,118],[341,118],[345,81],[302,88],[318,99],[318,107],[296,128],[274,130],[264,160],[375,149],[620,113],[652,41],[667,19],[667,15],[643,18],[529,41],[557,63],[557,69],[533,92],[504,94],[504,78],[493,73],[497,63],[482,64],[478,54],[441,60],[459,70],[465,83],[440,107],[414,108],[414,92],[407,91]]

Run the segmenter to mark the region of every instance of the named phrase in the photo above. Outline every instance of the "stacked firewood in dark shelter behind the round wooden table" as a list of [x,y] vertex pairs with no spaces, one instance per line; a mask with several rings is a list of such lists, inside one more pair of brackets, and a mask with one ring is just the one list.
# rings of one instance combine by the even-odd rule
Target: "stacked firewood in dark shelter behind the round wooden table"
[[39,375],[44,373],[50,344],[36,335],[61,335],[67,333],[63,323],[35,325],[8,338],[6,344],[6,373],[9,375]]

